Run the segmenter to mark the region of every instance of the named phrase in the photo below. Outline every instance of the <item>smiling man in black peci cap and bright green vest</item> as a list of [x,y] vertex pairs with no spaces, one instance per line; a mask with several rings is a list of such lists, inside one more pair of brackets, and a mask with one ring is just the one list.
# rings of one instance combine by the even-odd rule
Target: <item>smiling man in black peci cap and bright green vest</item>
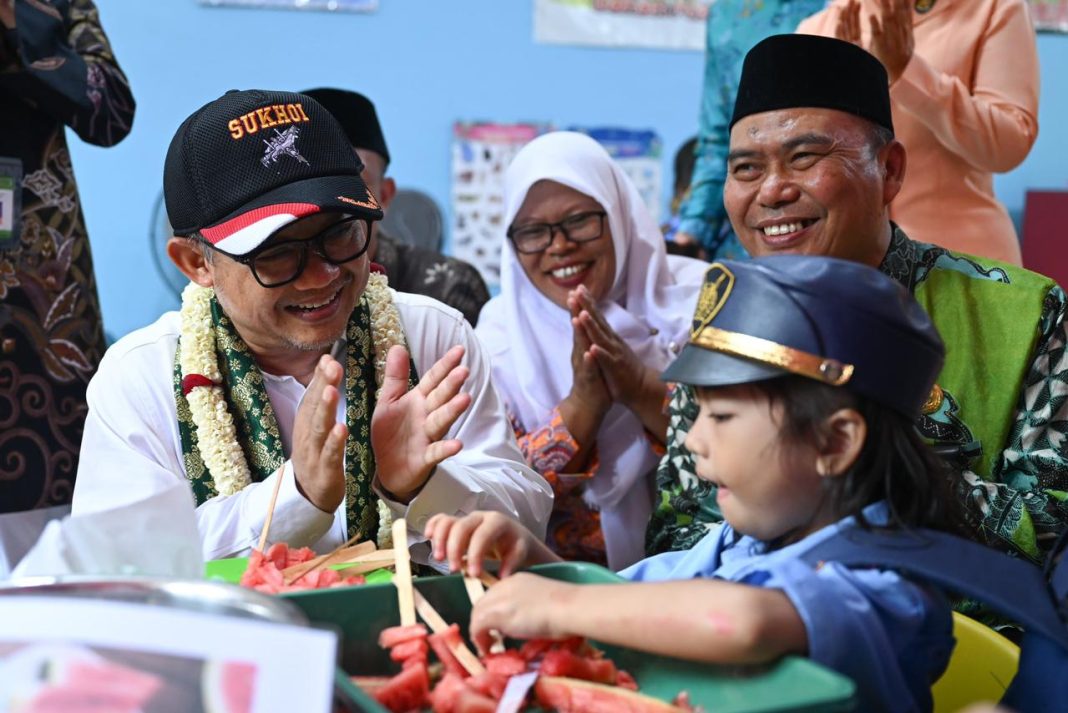
[[[885,70],[849,43],[778,35],[756,45],[731,127],[724,205],[745,249],[848,258],[912,290],[947,345],[918,428],[956,466],[977,539],[1040,559],[1068,522],[1064,291],[1027,270],[914,242],[890,221],[906,149]],[[671,411],[654,553],[689,546],[721,519],[682,443],[692,391],[677,390]]]

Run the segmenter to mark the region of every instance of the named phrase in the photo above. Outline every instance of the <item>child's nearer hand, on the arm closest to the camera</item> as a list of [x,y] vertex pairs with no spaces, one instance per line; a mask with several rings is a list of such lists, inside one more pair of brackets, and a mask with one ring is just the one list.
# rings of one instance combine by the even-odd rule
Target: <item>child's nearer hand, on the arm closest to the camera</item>
[[491,631],[513,638],[564,638],[576,632],[561,628],[570,593],[577,585],[520,572],[501,580],[471,611],[471,640],[480,653],[493,644]]

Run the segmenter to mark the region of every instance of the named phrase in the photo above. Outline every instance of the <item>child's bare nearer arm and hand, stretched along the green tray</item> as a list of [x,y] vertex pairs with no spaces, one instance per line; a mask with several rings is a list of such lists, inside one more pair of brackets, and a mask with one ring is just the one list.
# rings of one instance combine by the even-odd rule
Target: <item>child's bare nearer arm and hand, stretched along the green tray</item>
[[483,651],[490,630],[515,638],[588,636],[710,663],[763,663],[808,648],[787,596],[721,580],[575,585],[529,573],[489,588],[471,612]]

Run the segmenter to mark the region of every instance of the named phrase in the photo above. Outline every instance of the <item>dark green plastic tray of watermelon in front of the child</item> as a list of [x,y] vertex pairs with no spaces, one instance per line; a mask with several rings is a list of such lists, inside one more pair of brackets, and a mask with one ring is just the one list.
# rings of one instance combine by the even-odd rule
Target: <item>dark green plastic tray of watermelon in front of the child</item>
[[[564,563],[535,567],[533,571],[565,582],[599,584],[622,579],[596,565]],[[446,621],[456,622],[467,635],[471,611],[459,575],[415,580],[415,587]],[[282,595],[303,609],[313,623],[335,628],[341,634],[341,668],[352,676],[388,676],[397,671],[389,652],[378,648],[378,633],[398,623],[396,589],[368,585]],[[680,691],[709,713],[765,713],[770,711],[836,712],[853,709],[854,685],[849,679],[807,659],[788,656],[761,667],[711,666],[598,645],[628,670],[642,693],[671,700]],[[359,708],[380,712],[370,696],[339,675],[337,686]]]

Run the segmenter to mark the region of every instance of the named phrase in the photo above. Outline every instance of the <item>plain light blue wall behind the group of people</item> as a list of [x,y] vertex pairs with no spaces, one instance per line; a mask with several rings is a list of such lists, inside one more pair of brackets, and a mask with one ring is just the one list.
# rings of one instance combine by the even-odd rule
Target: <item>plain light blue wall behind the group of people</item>
[[[197,0],[97,0],[138,101],[134,131],[100,149],[72,136],[105,326],[112,336],[176,300],[150,250],[163,155],[178,124],[227,89],[357,89],[378,106],[403,186],[449,205],[456,120],[654,128],[671,157],[695,130],[700,52],[539,45],[529,1],[381,0],[368,15],[217,9]],[[1039,37],[1041,134],[996,186],[1010,210],[1027,187],[1068,185],[1068,37]],[[1062,76],[1057,76],[1062,75]],[[666,195],[665,195],[666,200]]]

